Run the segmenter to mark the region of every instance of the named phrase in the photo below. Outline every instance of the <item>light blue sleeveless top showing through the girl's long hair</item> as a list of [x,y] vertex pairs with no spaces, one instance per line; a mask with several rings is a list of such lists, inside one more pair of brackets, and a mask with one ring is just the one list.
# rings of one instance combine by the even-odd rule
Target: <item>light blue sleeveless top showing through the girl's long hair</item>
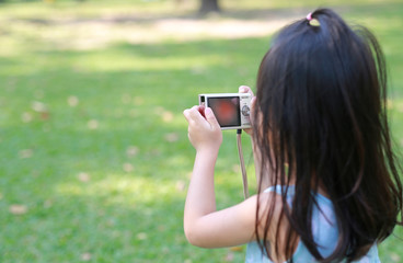
[[[275,192],[281,194],[281,185],[276,185],[265,190],[267,192]],[[289,186],[287,193],[287,203],[291,207],[292,198],[295,196],[295,187]],[[315,243],[320,244],[318,251],[322,256],[329,256],[333,253],[337,244],[338,228],[336,222],[336,215],[332,202],[321,194],[314,194],[318,205],[313,207],[312,211],[312,233]],[[316,262],[314,256],[309,252],[303,242],[299,242],[296,252],[292,255],[295,263],[310,263]],[[265,254],[262,253],[257,242],[251,242],[246,248],[245,263],[273,263]],[[355,263],[380,263],[378,256],[377,244],[368,251],[367,255],[362,256]]]

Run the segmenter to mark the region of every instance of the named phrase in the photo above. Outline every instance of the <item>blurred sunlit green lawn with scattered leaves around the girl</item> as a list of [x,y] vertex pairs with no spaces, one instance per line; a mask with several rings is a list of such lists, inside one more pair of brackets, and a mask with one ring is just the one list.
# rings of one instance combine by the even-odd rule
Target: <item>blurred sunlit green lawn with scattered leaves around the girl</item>
[[[327,3],[379,37],[401,147],[403,3]],[[183,235],[194,150],[182,111],[202,92],[254,88],[273,32],[323,5],[303,4],[228,0],[206,20],[191,0],[0,5],[0,262],[242,262],[243,247],[204,250]],[[253,191],[246,137],[244,153]],[[234,133],[216,179],[219,208],[242,199]],[[389,238],[382,262],[402,262],[402,245]]]

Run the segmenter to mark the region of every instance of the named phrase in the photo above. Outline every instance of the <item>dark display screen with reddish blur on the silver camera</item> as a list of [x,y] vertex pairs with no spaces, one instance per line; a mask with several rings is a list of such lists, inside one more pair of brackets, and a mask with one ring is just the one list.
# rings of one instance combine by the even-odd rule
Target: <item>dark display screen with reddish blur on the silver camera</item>
[[208,106],[211,107],[221,127],[241,126],[238,96],[208,98]]

